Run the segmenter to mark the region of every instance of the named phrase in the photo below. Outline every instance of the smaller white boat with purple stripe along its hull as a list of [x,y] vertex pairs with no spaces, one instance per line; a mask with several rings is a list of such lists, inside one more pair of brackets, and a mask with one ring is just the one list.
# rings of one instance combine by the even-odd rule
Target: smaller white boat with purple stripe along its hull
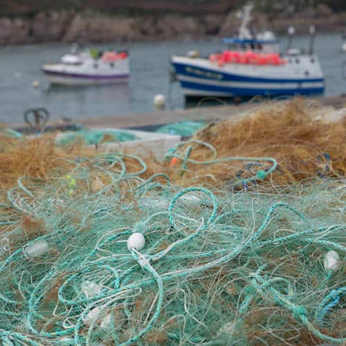
[[127,51],[79,51],[62,56],[60,62],[44,64],[42,71],[51,84],[90,85],[113,84],[129,80]]

